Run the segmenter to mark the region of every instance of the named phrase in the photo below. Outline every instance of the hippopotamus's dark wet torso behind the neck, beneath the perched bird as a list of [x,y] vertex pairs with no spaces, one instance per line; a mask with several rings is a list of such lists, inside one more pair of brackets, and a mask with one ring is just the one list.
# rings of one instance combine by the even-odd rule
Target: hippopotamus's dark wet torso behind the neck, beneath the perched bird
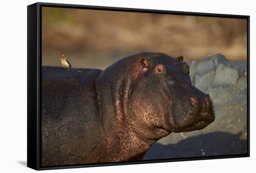
[[[94,85],[99,73],[99,69],[42,67],[43,166],[84,162],[87,158],[78,157],[79,153],[88,153],[91,144],[101,140]],[[95,133],[94,141],[87,140],[88,133]]]

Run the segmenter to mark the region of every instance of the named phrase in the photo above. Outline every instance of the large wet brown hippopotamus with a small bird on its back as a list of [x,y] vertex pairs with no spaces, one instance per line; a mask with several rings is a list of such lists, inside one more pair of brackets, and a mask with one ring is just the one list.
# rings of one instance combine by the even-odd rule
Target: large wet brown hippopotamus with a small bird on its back
[[183,57],[139,53],[105,70],[42,66],[41,164],[142,160],[170,133],[215,121]]

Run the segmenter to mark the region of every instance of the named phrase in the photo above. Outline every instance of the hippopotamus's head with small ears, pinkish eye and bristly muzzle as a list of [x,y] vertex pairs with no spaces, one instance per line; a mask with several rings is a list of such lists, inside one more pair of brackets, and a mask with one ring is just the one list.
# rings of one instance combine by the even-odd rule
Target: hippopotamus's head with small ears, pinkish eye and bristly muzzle
[[105,101],[113,105],[116,122],[125,122],[147,140],[199,130],[215,120],[210,96],[193,86],[182,56],[136,54],[104,70],[99,79],[109,93],[105,99],[111,97]]

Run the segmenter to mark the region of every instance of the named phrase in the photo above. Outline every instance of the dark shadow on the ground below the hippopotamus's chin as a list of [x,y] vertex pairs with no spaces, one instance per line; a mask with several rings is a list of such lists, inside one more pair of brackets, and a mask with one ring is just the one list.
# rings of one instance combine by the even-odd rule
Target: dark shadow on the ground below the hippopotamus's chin
[[213,132],[188,137],[175,144],[155,143],[143,160],[246,154],[247,141],[239,134]]

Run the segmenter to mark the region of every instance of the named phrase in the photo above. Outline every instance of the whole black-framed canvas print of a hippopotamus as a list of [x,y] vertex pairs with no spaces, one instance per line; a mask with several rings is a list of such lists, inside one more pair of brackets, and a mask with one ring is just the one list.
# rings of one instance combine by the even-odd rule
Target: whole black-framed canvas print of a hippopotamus
[[249,16],[27,6],[28,167],[248,156]]

